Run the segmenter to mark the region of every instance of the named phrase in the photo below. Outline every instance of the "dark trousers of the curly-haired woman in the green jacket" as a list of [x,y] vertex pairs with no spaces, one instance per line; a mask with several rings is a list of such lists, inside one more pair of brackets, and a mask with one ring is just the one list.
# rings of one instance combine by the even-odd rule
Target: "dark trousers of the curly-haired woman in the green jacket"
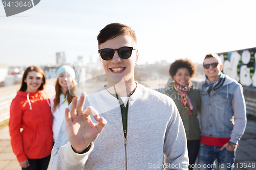
[[187,151],[188,151],[188,158],[189,158],[189,170],[192,170],[197,159],[197,154],[199,151],[200,140],[187,140]]

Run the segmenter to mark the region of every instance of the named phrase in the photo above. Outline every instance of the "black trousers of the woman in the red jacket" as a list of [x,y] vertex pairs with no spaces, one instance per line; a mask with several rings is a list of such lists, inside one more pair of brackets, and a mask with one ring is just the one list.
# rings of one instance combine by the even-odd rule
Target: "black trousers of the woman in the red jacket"
[[28,159],[29,166],[22,170],[46,170],[50,162],[51,155],[41,159]]

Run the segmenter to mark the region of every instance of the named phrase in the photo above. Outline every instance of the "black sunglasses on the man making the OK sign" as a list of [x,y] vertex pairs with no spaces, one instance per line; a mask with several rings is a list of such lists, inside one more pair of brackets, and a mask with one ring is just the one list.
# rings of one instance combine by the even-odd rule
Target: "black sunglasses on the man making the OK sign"
[[114,57],[115,51],[117,51],[121,59],[127,59],[131,57],[133,50],[135,49],[130,46],[123,46],[118,49],[103,48],[99,50],[99,54],[103,60],[111,60]]

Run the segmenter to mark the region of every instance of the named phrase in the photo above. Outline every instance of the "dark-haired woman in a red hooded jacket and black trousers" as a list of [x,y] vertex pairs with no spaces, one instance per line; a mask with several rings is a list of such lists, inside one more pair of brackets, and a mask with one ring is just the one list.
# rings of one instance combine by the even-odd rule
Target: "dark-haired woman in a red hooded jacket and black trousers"
[[48,97],[42,92],[44,71],[28,67],[10,108],[11,145],[22,169],[46,170],[53,145],[52,117]]

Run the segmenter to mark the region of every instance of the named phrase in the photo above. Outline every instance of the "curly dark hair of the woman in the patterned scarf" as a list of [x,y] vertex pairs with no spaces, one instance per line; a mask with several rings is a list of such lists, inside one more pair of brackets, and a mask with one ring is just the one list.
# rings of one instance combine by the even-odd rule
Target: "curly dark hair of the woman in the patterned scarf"
[[175,60],[172,64],[170,64],[169,74],[172,78],[176,75],[176,72],[179,68],[187,68],[189,71],[190,78],[194,77],[197,72],[197,66],[191,60],[186,59],[178,59]]

